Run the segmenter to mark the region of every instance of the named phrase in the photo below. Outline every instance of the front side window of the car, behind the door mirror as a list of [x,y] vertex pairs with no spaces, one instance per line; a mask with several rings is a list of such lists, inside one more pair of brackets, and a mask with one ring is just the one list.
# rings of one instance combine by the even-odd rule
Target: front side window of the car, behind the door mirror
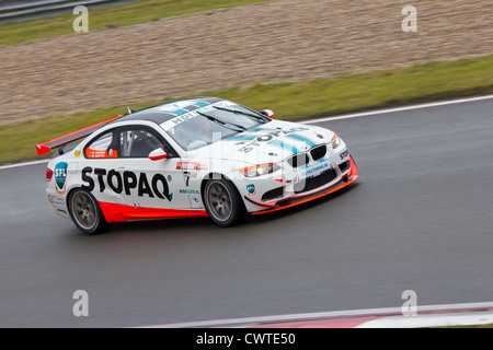
[[122,158],[147,158],[150,152],[162,148],[163,143],[147,129],[126,129],[119,132]]

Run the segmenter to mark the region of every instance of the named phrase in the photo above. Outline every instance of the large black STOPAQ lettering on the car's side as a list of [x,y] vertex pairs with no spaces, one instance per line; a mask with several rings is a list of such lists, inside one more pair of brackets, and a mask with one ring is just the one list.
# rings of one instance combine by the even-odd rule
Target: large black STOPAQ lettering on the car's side
[[[162,174],[156,174],[152,178],[148,178],[146,173],[117,172],[115,170],[106,171],[105,168],[87,166],[82,170],[82,185],[89,191],[96,190],[96,182],[90,176],[94,174],[98,178],[98,190],[104,192],[107,187],[115,194],[125,192],[130,196],[133,191],[137,191],[137,196],[149,198],[173,199],[170,194],[168,180]],[[107,184],[107,187],[106,187]]]

